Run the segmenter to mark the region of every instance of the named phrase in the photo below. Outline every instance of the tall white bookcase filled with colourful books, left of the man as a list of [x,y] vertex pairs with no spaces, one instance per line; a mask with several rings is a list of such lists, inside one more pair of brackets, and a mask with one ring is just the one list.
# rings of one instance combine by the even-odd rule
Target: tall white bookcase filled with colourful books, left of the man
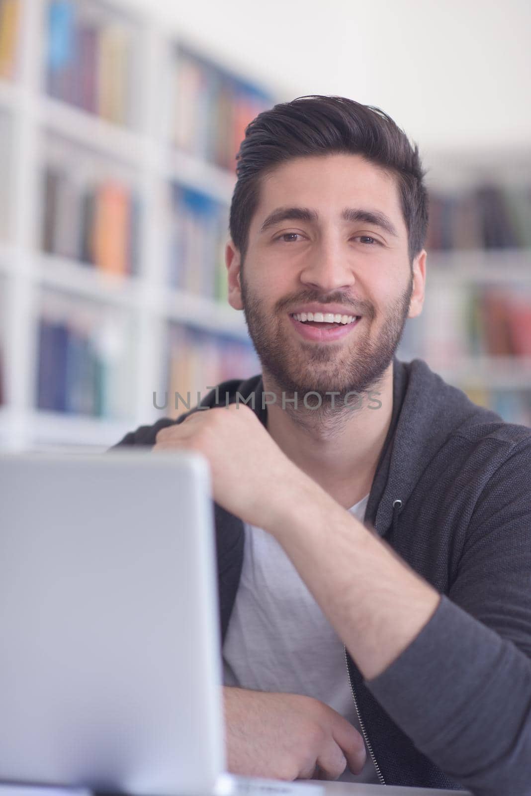
[[103,451],[258,373],[224,247],[276,101],[127,0],[0,0],[1,447]]

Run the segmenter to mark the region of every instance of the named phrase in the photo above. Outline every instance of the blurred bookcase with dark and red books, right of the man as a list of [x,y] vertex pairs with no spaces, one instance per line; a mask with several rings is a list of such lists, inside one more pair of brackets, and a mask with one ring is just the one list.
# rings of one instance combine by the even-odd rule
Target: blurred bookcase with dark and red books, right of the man
[[531,150],[426,158],[424,308],[397,356],[531,427]]

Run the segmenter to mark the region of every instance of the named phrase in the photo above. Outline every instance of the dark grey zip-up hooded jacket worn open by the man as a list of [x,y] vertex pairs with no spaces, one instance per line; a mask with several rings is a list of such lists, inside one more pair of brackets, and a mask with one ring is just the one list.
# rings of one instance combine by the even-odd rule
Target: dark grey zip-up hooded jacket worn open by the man
[[[200,406],[237,392],[254,394],[266,424],[260,375],[219,384],[217,402],[212,390]],[[184,417],[138,427],[110,451],[153,446]],[[244,533],[214,509],[223,643]],[[378,677],[365,680],[347,655],[382,782],[531,796],[531,428],[471,403],[424,361],[393,357],[393,415],[366,521],[442,595]]]

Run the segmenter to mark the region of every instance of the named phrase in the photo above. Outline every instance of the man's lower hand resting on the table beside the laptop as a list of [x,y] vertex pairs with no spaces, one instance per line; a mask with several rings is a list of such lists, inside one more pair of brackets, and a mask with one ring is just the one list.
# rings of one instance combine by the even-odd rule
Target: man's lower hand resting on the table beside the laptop
[[269,779],[339,778],[362,771],[365,744],[339,713],[312,696],[223,688],[227,767]]

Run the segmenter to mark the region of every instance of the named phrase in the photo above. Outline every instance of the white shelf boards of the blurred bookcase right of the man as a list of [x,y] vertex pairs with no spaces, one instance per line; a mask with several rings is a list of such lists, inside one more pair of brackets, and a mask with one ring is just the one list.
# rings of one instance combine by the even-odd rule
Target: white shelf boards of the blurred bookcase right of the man
[[[429,167],[426,182],[431,192],[456,196],[485,184],[507,191],[525,188],[529,191],[526,223],[531,227],[531,149],[436,152],[424,154],[423,162]],[[525,393],[526,408],[516,412],[517,416],[510,412],[504,419],[531,426],[531,355],[467,353],[468,318],[466,312],[459,316],[459,302],[467,307],[470,291],[487,287],[521,291],[531,309],[529,245],[444,251],[428,248],[424,310],[419,318],[407,322],[409,330],[397,353],[405,360],[423,358],[444,380],[469,392],[472,400],[488,392]],[[448,306],[453,310],[448,313],[448,322],[454,322],[455,328],[444,330],[443,334],[440,326]],[[448,343],[446,347],[442,345],[443,338]],[[490,406],[490,402],[487,400],[484,405]],[[498,411],[496,406],[491,408]]]

